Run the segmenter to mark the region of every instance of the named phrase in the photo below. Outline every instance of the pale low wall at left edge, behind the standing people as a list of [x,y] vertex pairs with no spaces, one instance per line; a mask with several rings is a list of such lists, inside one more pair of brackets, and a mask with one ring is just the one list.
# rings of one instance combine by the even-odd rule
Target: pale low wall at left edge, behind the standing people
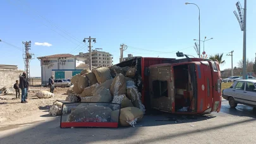
[[23,71],[16,69],[0,69],[0,88],[13,87],[16,80],[20,80],[19,76]]

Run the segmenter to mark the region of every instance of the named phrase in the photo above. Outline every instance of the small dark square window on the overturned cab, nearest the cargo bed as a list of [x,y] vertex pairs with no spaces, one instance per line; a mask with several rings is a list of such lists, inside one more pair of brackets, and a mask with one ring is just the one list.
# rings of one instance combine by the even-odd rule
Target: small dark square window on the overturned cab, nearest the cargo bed
[[168,97],[168,82],[167,81],[153,81],[153,93],[154,97]]

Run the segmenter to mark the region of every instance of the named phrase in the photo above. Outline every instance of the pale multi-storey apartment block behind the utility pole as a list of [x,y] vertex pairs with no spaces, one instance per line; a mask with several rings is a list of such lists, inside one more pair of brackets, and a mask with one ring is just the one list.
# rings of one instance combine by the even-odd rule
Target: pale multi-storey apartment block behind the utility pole
[[[89,63],[89,52],[83,53],[79,52],[80,57],[85,57],[87,60],[85,60],[85,64],[90,64]],[[113,66],[113,55],[110,54],[109,52],[103,52],[103,51],[97,51],[93,50],[92,51],[92,66],[104,66],[104,67],[109,67]]]

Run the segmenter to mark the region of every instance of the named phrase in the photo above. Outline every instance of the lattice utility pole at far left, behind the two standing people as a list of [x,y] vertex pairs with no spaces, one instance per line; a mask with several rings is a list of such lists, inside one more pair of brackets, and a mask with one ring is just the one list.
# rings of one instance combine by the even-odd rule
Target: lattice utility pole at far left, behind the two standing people
[[25,54],[23,54],[23,59],[24,59],[24,63],[25,63],[25,72],[27,73],[27,80],[30,83],[30,59],[32,59],[32,55],[34,54],[30,54],[29,50],[31,47],[31,41],[29,42],[22,42],[22,44],[25,45]]

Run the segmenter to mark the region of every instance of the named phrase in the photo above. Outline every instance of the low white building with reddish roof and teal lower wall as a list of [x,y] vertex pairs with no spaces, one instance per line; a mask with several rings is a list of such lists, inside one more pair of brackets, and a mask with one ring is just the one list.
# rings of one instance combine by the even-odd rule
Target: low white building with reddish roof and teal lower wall
[[40,60],[42,85],[48,83],[51,75],[54,79],[68,79],[82,71],[76,69],[80,64],[85,63],[84,57],[72,54],[54,54],[51,56],[37,57]]

